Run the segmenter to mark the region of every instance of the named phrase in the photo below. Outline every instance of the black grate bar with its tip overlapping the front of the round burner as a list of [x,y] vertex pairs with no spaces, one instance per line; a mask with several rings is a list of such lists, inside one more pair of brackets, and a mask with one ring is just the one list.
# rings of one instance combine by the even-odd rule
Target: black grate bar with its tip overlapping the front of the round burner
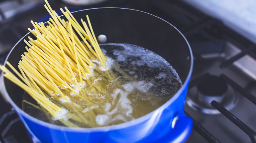
[[225,109],[221,104],[219,104],[217,101],[212,101],[211,105],[219,110],[227,119],[232,121],[236,126],[238,126],[241,130],[243,130],[251,139],[252,143],[256,143],[256,133],[248,127],[244,122],[242,122],[240,119],[238,119],[236,116],[234,116],[231,112],[229,112],[227,109]]

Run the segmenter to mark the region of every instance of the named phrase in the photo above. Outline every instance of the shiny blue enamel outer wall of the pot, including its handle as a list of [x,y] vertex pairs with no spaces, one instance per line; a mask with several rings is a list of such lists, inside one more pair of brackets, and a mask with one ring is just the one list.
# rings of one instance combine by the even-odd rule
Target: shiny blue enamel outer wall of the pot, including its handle
[[[152,113],[151,117],[138,122],[130,121],[132,125],[126,127],[103,127],[95,129],[70,129],[41,124],[19,113],[26,126],[29,128],[31,137],[37,137],[37,143],[91,143],[91,142],[185,142],[192,130],[192,120],[184,114],[184,101],[187,85],[179,97],[167,108],[159,108]],[[175,127],[172,129],[172,121],[178,117]],[[129,122],[127,122],[129,124]],[[125,124],[127,124],[125,123]],[[121,124],[120,124],[121,125]],[[31,133],[32,132],[32,133]],[[34,139],[33,139],[34,140]],[[35,141],[34,141],[35,142]]]

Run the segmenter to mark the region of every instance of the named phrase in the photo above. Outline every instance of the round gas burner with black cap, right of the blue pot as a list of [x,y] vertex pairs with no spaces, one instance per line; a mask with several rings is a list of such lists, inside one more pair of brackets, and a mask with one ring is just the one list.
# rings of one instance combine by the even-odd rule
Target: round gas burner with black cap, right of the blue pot
[[210,75],[188,91],[186,103],[205,114],[220,114],[210,103],[215,100],[230,110],[237,103],[237,93],[218,76]]

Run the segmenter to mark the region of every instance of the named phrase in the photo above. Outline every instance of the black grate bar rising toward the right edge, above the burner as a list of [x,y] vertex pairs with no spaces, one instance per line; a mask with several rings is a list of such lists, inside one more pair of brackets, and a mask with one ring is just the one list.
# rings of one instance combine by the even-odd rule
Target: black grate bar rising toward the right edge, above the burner
[[246,54],[250,53],[251,51],[256,49],[256,44],[253,44],[251,46],[249,46],[248,48],[242,50],[240,53],[238,53],[235,56],[232,56],[231,58],[225,60],[224,62],[222,62],[220,64],[220,68],[224,69],[228,66],[230,66],[233,62],[235,62],[236,60],[240,59],[241,57],[245,56]]

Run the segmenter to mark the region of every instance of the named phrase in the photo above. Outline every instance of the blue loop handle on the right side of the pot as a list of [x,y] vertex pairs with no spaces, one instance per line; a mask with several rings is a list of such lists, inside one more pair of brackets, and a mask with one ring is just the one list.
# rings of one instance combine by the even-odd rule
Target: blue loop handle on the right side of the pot
[[187,117],[184,113],[180,116],[176,115],[171,122],[172,131],[160,140],[160,142],[170,142],[170,143],[184,143],[193,128],[193,121],[191,118]]

